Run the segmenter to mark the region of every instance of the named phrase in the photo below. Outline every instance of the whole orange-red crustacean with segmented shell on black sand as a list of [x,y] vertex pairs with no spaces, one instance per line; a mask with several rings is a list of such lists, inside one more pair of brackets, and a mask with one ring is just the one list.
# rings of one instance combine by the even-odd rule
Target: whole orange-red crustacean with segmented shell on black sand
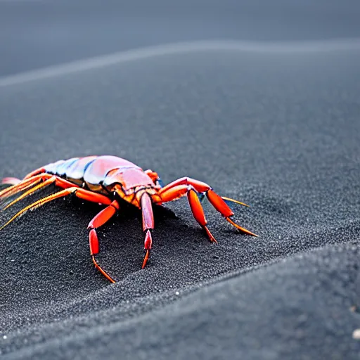
[[[9,221],[0,227],[4,229],[17,217],[27,210],[32,210],[57,198],[65,195],[74,194],[78,198],[100,203],[106,207],[99,212],[94,219],[89,222],[89,245],[91,259],[96,268],[101,271],[106,278],[115,283],[101,266],[96,262],[95,255],[99,252],[99,241],[96,229],[103,226],[115,212],[120,210],[121,200],[138,207],[142,212],[142,223],[144,231],[144,251],[142,268],[146,266],[146,262],[150,256],[153,239],[151,231],[154,229],[153,204],[162,205],[168,201],[176,200],[184,195],[188,197],[188,203],[193,212],[195,220],[203,227],[208,238],[212,242],[217,242],[207,229],[207,221],[203,207],[200,203],[198,195],[206,195],[207,199],[214,208],[221,213],[223,217],[235,226],[239,231],[256,236],[231,220],[233,211],[224,200],[229,200],[240,205],[245,205],[230,198],[221,198],[212,188],[195,179],[183,177],[172,181],[172,183],[162,186],[160,178],[156,172],[152,170],[143,171],[141,167],[116,156],[87,156],[85,158],[72,158],[69,160],[60,160],[41,167],[30,174],[27,174],[23,180],[15,178],[6,178],[3,184],[8,184],[4,190],[0,191],[0,202],[3,206],[1,210],[6,210],[19,200],[26,198],[28,195],[38,191],[45,186],[51,184],[62,188],[51,195],[48,195],[20,210]],[[18,198],[8,203],[11,196],[16,193],[23,192]],[[248,205],[245,205],[248,206]]]

